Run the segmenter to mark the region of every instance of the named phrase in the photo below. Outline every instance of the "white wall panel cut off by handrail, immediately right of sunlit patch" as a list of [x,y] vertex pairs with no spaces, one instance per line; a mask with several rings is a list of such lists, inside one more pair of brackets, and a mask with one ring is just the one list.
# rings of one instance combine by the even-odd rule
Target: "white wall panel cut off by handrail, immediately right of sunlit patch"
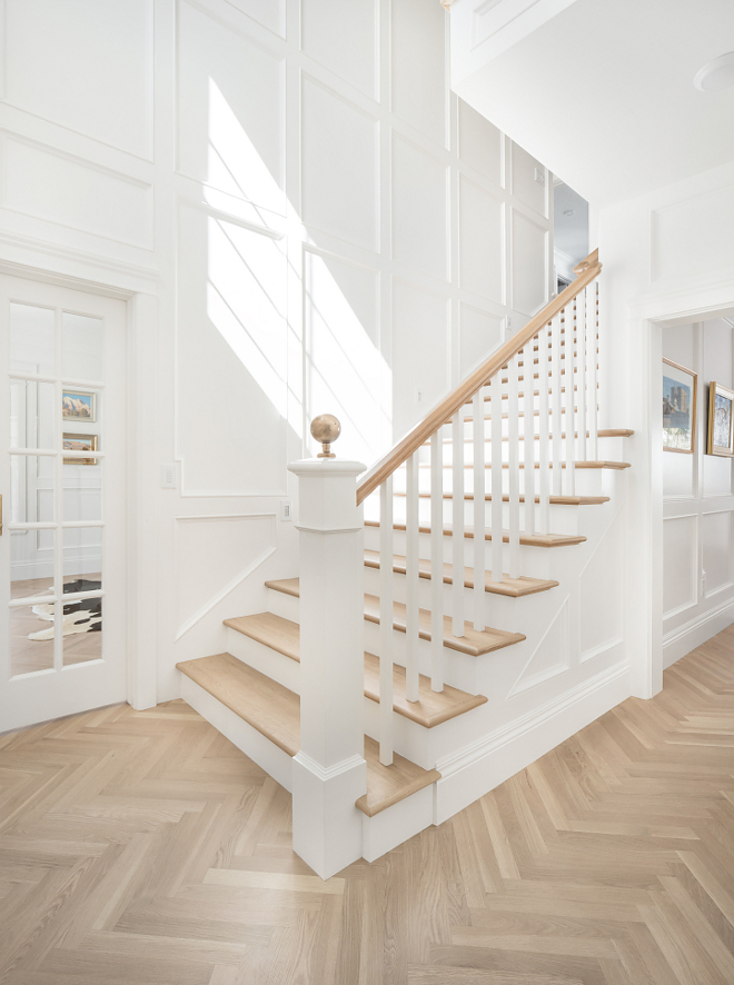
[[[446,394],[449,384],[448,302],[393,281],[393,431],[404,435]],[[421,400],[416,401],[416,391]]]

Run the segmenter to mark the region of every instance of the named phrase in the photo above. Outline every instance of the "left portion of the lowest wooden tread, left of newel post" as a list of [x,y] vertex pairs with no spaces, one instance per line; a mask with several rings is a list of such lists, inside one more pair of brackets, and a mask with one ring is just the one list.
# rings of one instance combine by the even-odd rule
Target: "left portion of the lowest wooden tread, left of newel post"
[[231,654],[176,666],[284,753],[295,756],[300,749],[300,698],[292,690]]

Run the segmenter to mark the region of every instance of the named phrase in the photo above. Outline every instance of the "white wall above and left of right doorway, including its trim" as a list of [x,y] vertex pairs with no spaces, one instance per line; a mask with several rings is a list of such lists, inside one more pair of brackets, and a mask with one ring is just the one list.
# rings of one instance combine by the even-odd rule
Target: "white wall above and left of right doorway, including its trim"
[[[664,459],[672,457],[662,451],[663,339],[677,325],[715,322],[734,304],[734,163],[602,209],[595,220],[605,271],[602,415],[604,424],[624,417],[636,431],[628,452],[625,609],[635,693],[649,697],[662,686]],[[701,358],[707,382],[720,369]],[[667,481],[669,490],[669,475]],[[726,608],[707,619],[705,633],[733,618],[734,609]],[[666,633],[667,624],[672,619]],[[668,637],[668,658],[672,641]]]

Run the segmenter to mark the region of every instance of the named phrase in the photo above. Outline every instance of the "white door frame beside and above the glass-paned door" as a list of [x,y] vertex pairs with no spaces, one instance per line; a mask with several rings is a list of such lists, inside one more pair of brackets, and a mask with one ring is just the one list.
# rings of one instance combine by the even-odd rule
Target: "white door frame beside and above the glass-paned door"
[[157,298],[123,286],[123,281],[129,281],[127,276],[118,283],[105,283],[11,260],[0,260],[0,272],[126,302],[127,700],[137,710],[151,708],[157,704],[157,415],[143,415],[143,401],[139,398],[146,395],[156,406]]

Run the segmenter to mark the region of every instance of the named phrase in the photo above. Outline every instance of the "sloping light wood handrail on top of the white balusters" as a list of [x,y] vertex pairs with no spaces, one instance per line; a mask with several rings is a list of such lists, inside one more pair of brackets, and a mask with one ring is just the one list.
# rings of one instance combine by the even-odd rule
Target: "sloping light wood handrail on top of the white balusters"
[[527,325],[500,346],[496,352],[482,364],[470,376],[459,384],[447,397],[444,397],[421,421],[393,446],[387,455],[365,472],[357,486],[357,505],[363,503],[370,492],[379,488],[404,461],[424,445],[438,428],[443,427],[454,415],[470,400],[492,377],[506,366],[520,349],[552,321],[558,312],[571,304],[581,291],[595,280],[602,270],[598,250],[589,253],[585,260],[574,268],[578,276],[573,283],[553,298],[542,311],[538,311]]

